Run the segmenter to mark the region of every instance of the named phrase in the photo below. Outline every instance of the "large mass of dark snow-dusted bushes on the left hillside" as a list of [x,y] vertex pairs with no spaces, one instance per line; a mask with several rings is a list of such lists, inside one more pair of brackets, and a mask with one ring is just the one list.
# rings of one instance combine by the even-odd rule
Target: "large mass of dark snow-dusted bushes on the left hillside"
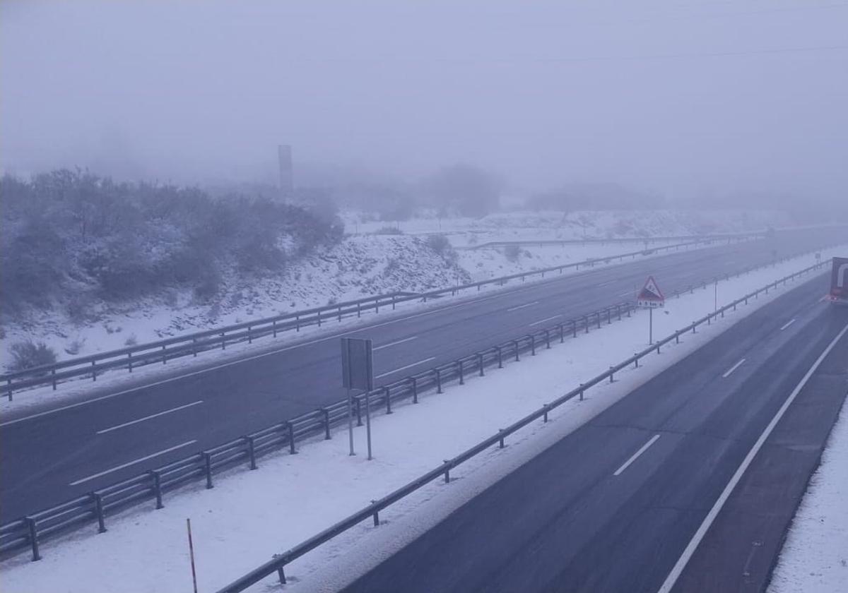
[[205,301],[226,272],[265,274],[341,240],[332,212],[192,187],[117,183],[59,170],[0,179],[0,313],[115,302],[190,288]]

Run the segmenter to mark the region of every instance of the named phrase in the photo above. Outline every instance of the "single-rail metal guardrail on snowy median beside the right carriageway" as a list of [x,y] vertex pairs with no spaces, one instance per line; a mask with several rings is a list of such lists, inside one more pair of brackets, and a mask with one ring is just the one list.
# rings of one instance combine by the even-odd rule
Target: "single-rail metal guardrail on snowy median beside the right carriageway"
[[461,452],[453,459],[446,460],[438,467],[431,469],[429,472],[427,472],[427,474],[419,476],[418,478],[412,480],[410,483],[401,486],[398,490],[394,490],[387,496],[383,496],[380,500],[371,502],[371,504],[367,507],[362,508],[360,511],[350,515],[348,518],[342,519],[337,524],[332,525],[332,527],[324,529],[323,531],[321,531],[321,533],[310,537],[310,539],[298,544],[298,546],[294,546],[290,550],[284,551],[282,554],[275,554],[270,561],[262,564],[258,568],[254,568],[254,570],[250,571],[248,574],[245,574],[241,578],[233,581],[231,584],[226,585],[225,587],[220,589],[218,593],[237,593],[238,591],[243,591],[249,586],[258,583],[261,579],[265,579],[265,577],[270,576],[274,573],[277,574],[277,577],[280,579],[281,583],[286,583],[285,567],[288,563],[292,563],[297,558],[304,556],[304,554],[312,550],[315,550],[316,547],[321,546],[321,544],[326,543],[326,541],[332,540],[332,538],[342,534],[348,529],[353,528],[354,526],[360,524],[362,521],[365,521],[368,518],[371,518],[373,520],[375,527],[379,526],[380,511],[386,509],[387,507],[390,507],[391,505],[393,505],[393,503],[398,502],[405,496],[410,495],[411,493],[415,492],[416,490],[419,490],[421,487],[429,484],[430,482],[436,479],[444,478],[445,483],[449,483],[451,469],[459,467],[462,463],[465,463],[472,457],[476,457],[478,454],[487,451],[490,447],[499,446],[499,448],[503,448],[506,437],[515,434],[518,430],[522,430],[527,425],[538,421],[540,418],[543,420],[543,422],[547,422],[548,414],[556,407],[559,407],[563,403],[572,400],[574,397],[579,397],[582,400],[583,395],[590,388],[594,387],[595,385],[599,385],[600,383],[603,383],[605,381],[613,382],[615,374],[622,371],[623,369],[627,369],[631,364],[633,364],[635,367],[639,367],[639,360],[648,356],[652,352],[656,352],[657,354],[659,354],[661,347],[666,346],[672,341],[674,341],[675,343],[679,343],[680,336],[689,332],[695,333],[695,329],[699,325],[711,324],[713,319],[717,319],[719,317],[723,318],[724,313],[730,310],[735,311],[740,304],[747,304],[750,299],[756,298],[763,292],[767,294],[769,290],[777,289],[778,285],[785,285],[787,281],[794,280],[796,277],[801,276],[803,274],[808,274],[813,270],[821,269],[824,265],[828,264],[824,262],[817,263],[809,268],[802,269],[799,272],[795,272],[795,274],[789,274],[788,276],[785,276],[780,280],[775,280],[774,282],[771,282],[756,291],[750,292],[749,294],[742,296],[734,302],[731,302],[728,305],[717,309],[713,313],[708,313],[705,317],[701,319],[693,321],[686,327],[675,331],[674,333],[672,333],[672,335],[668,335],[662,340],[657,341],[654,345],[645,348],[641,352],[633,354],[632,357],[629,357],[621,363],[611,366],[608,371],[599,374],[597,377],[594,377],[594,379],[591,379],[586,383],[581,383],[578,387],[575,387],[574,389],[572,389],[572,391],[568,391],[566,394],[556,398],[553,402],[547,403],[543,407],[538,408],[538,410],[527,414],[527,416],[521,418],[520,420],[517,420],[513,424],[510,424],[510,426],[506,427],[505,429],[500,429],[496,434],[489,436],[483,441],[480,441],[479,443],[477,443],[477,445],[472,446],[465,452]]

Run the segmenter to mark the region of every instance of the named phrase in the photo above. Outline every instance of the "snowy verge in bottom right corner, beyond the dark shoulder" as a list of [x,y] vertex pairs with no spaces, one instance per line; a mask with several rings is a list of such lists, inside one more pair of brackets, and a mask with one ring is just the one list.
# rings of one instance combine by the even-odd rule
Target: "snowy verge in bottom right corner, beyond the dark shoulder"
[[792,519],[768,593],[848,589],[848,406]]

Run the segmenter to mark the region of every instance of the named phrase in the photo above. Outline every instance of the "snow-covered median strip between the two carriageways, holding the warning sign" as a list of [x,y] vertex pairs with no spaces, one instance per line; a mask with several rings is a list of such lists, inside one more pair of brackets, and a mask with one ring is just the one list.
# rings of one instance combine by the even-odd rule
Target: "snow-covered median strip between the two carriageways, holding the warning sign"
[[[720,302],[777,280],[812,263],[795,258],[719,284]],[[789,285],[789,288],[791,285]],[[460,506],[471,496],[600,413],[634,387],[693,352],[781,291],[750,302],[747,308],[687,335],[639,369],[622,371],[614,384],[599,385],[583,402],[572,401],[551,414],[553,422],[528,427],[452,472],[449,485],[433,483],[381,513],[379,528],[364,522],[287,567],[286,590],[337,590],[353,574],[379,562],[405,542]],[[667,303],[655,316],[655,335],[667,335],[713,307],[713,291],[696,291]],[[347,441],[310,441],[297,456],[278,452],[259,460],[258,471],[237,468],[215,478],[215,489],[192,485],[153,504],[109,517],[109,532],[96,528],[42,545],[43,559],[25,554],[0,564],[3,590],[97,591],[191,590],[186,518],[192,534],[199,589],[216,590],[339,519],[438,466],[500,427],[549,402],[645,345],[646,318],[636,314],[603,330],[522,357],[466,385],[449,385],[444,395],[421,397],[418,405],[395,408],[373,422],[376,459],[361,454],[364,430],[356,429],[360,455],[349,457]],[[279,590],[273,579],[254,590]]]

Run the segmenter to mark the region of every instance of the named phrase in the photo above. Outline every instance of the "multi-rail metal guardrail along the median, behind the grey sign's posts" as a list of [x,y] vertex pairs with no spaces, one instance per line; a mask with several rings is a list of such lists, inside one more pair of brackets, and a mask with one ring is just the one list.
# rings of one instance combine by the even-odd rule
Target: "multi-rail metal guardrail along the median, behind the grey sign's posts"
[[[444,385],[451,380],[459,380],[462,385],[471,373],[482,375],[487,367],[494,365],[503,367],[508,358],[518,360],[523,352],[531,352],[535,355],[537,348],[542,346],[550,348],[552,339],[559,338],[560,341],[564,341],[566,335],[577,337],[578,333],[589,333],[592,327],[600,329],[604,323],[611,324],[613,318],[621,319],[625,314],[629,317],[632,311],[633,305],[629,303],[611,305],[575,319],[551,325],[546,329],[535,330],[516,337],[515,340],[460,357],[421,373],[409,375],[388,385],[382,385],[367,395],[363,393],[354,396],[356,422],[362,425],[366,396],[373,406],[385,406],[386,413],[392,413],[393,403],[406,399],[418,403],[421,391],[435,387],[436,391],[441,393]],[[265,453],[286,447],[289,452],[294,453],[298,441],[314,435],[323,435],[325,439],[329,439],[332,427],[346,423],[347,419],[348,401],[344,399],[144,474],[94,490],[56,507],[3,524],[0,526],[0,554],[30,547],[32,559],[38,560],[41,557],[39,541],[51,535],[79,528],[92,521],[97,521],[98,532],[103,533],[106,530],[105,519],[108,513],[145,500],[155,500],[156,508],[162,508],[163,496],[170,490],[199,479],[204,479],[206,487],[212,488],[213,476],[217,472],[241,463],[247,463],[249,468],[256,469],[257,459]]]

